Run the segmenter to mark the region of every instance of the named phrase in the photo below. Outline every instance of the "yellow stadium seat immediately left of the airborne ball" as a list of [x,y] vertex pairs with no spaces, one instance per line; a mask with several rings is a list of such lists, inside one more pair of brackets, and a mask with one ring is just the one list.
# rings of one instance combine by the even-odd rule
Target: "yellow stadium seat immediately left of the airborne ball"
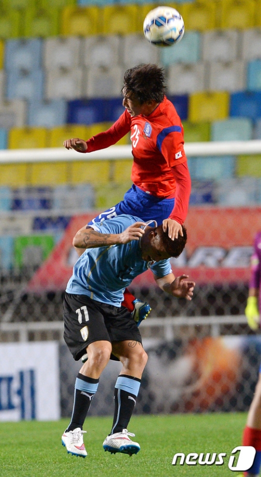
[[144,18],[140,16],[138,5],[106,5],[101,13],[102,33],[105,35],[128,35],[143,31]]

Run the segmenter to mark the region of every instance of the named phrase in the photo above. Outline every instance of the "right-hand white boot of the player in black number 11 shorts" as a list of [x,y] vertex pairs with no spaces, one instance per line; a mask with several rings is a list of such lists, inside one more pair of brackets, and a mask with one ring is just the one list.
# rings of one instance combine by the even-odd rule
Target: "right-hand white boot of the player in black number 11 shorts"
[[123,429],[122,432],[116,432],[107,436],[103,442],[103,449],[105,452],[108,450],[111,454],[120,452],[121,454],[129,454],[131,457],[133,454],[139,452],[140,445],[137,442],[131,441],[130,437],[134,437],[135,434],[128,432],[127,429]]

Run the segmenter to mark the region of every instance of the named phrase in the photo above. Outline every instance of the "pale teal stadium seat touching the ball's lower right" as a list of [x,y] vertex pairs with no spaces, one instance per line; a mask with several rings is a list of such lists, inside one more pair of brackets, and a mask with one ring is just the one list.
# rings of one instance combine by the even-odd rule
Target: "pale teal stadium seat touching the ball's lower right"
[[175,63],[196,63],[201,59],[201,44],[200,32],[186,31],[175,48],[160,48],[160,63],[166,67]]

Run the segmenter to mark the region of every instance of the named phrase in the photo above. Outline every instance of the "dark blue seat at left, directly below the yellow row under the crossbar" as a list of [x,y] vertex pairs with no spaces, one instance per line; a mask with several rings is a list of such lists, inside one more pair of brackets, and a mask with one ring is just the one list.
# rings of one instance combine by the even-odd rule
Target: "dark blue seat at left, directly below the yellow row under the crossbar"
[[48,187],[26,187],[14,189],[12,210],[50,210],[51,189]]

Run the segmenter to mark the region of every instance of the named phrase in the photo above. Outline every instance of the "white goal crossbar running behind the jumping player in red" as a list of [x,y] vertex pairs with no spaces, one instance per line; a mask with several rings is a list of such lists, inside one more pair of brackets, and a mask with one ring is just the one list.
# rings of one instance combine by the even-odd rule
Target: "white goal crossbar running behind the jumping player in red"
[[[186,143],[185,152],[187,157],[261,154],[261,141]],[[88,154],[79,154],[73,150],[68,151],[64,147],[49,147],[45,149],[6,149],[0,151],[0,164],[123,158],[132,159],[131,145],[111,146],[107,149],[90,152]]]

